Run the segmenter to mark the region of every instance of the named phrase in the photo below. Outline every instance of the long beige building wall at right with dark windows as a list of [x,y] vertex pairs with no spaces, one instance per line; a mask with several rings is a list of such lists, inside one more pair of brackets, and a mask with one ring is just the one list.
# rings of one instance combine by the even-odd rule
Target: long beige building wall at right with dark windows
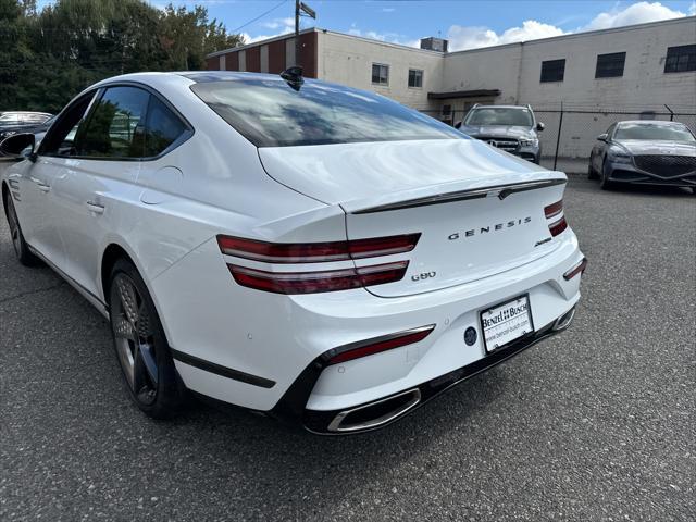
[[[667,48],[688,44],[696,44],[693,16],[455,52],[445,55],[442,90],[500,89],[496,103],[554,107],[562,101],[566,107],[602,109],[659,109],[667,103],[693,112],[696,72],[664,73]],[[598,54],[624,51],[622,77],[595,79]],[[557,59],[566,59],[563,82],[539,82],[542,62]]]

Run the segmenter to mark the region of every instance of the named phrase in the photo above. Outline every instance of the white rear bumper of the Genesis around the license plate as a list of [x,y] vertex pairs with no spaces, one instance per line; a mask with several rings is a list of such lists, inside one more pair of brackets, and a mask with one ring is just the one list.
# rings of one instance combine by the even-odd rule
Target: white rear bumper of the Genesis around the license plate
[[[394,298],[364,289],[281,296],[240,287],[210,243],[156,278],[152,294],[189,389],[279,417],[303,419],[311,410],[323,418],[321,412],[391,397],[493,360],[481,334],[471,346],[463,335],[469,327],[481,332],[480,312],[496,303],[529,295],[534,325],[572,309],[581,277],[566,281],[563,273],[583,256],[570,228],[555,241],[550,253],[529,264]],[[433,324],[418,343],[331,366],[318,363],[336,347]],[[428,394],[423,390],[421,400]]]

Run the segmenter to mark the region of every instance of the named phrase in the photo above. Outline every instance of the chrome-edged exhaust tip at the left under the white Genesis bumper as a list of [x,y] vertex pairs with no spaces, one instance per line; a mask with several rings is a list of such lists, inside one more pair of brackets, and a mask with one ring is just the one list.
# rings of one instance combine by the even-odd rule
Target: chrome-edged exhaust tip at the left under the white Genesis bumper
[[421,390],[409,389],[386,399],[345,410],[331,421],[328,432],[349,433],[371,430],[403,415],[421,401]]

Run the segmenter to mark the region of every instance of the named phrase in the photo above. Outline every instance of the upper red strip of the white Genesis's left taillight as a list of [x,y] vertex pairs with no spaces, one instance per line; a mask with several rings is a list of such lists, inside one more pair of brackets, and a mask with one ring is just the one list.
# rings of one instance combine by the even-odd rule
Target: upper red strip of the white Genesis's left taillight
[[328,243],[265,243],[233,236],[217,236],[220,250],[236,258],[266,263],[324,263],[410,252],[421,234]]

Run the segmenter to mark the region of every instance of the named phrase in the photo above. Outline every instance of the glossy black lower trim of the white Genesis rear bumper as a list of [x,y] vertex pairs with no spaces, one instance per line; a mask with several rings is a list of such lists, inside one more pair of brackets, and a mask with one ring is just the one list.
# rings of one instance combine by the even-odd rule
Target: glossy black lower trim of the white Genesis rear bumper
[[[554,330],[554,324],[555,323],[550,323],[544,326],[543,328],[538,330],[537,332],[525,335],[524,337],[521,337],[520,339],[513,341],[512,344],[504,348],[499,348],[496,351],[493,351],[484,356],[483,359],[478,359],[477,361],[472,362],[471,364],[453,370],[449,373],[446,373],[445,375],[436,377],[419,386],[413,386],[413,388],[418,388],[420,390],[421,401],[415,408],[410,409],[406,414],[409,414],[412,411],[417,410],[423,403],[427,402],[430,399],[436,397],[437,395],[446,391],[452,386],[481,372],[484,372],[506,361],[507,359],[513,356],[517,356],[518,353],[525,350],[526,348],[530,348],[531,346],[535,345],[539,340],[545,339],[546,337],[550,337],[554,334],[557,334],[558,332]],[[297,424],[297,422],[301,420],[301,423],[304,426],[304,428],[315,434],[345,435],[346,433],[330,432],[327,430],[327,426],[332,422],[332,420],[343,410],[315,411],[315,410],[304,409],[307,401],[309,400],[309,396],[312,393],[312,389],[314,388],[314,384],[316,384],[316,381],[319,380],[319,376],[321,375],[324,368],[326,368],[326,358],[324,356],[320,356],[316,359],[314,359],[299,375],[299,377],[297,377],[297,380],[293,383],[293,385],[288,388],[285,395],[281,398],[281,400],[277,402],[275,408],[273,408],[269,412],[269,414],[291,424]],[[403,393],[403,390],[400,390],[399,393],[387,396],[387,397],[383,397],[382,400],[386,400],[391,397],[398,396],[401,393]],[[370,405],[371,402],[374,402],[374,401],[365,402],[363,405],[351,406],[351,409],[360,408],[362,406]],[[399,419],[402,419],[403,417],[405,415],[397,417],[393,421],[389,421],[377,427],[373,427],[364,431],[366,432],[366,431],[380,430],[390,424],[391,422],[396,422]],[[363,433],[363,432],[351,432],[351,433]]]

